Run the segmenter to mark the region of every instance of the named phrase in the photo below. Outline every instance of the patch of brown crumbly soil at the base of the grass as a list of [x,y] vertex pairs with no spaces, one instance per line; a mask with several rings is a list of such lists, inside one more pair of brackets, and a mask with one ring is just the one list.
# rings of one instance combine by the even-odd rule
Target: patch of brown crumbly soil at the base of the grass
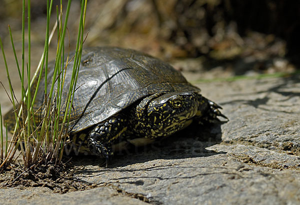
[[94,188],[95,185],[74,178],[74,170],[68,165],[36,165],[24,168],[12,164],[0,174],[0,188],[46,187],[52,193],[64,194]]

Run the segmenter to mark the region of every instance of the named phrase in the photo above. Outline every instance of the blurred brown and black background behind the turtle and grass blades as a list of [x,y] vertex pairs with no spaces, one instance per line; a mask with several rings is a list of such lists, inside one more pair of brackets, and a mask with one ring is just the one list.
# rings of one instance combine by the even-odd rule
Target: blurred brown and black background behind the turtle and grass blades
[[[7,24],[20,53],[21,1],[0,2],[0,36],[14,69]],[[53,5],[59,2],[54,0]],[[73,0],[68,22],[71,50],[79,3]],[[46,1],[31,0],[31,15],[31,65],[35,69],[44,45]],[[190,81],[288,74],[297,71],[300,62],[299,17],[298,0],[88,0],[84,46],[141,50],[170,62]],[[53,6],[51,26],[55,18]],[[55,51],[53,43],[49,59]],[[2,55],[0,72],[4,72]]]

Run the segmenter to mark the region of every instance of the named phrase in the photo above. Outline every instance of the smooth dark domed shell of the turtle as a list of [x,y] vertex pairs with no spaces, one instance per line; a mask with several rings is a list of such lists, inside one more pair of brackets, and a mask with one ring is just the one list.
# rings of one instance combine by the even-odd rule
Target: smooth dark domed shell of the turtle
[[[72,67],[73,60],[67,65],[65,72],[62,105],[66,103]],[[50,90],[52,76],[53,68],[48,71],[47,90]],[[37,91],[34,110],[43,106],[43,84],[44,78]],[[161,91],[200,90],[188,83],[172,66],[147,54],[117,47],[82,50],[69,132],[75,133],[93,126],[134,102]],[[60,113],[61,119],[63,114],[64,112]],[[38,115],[41,116],[41,111],[37,112]]]

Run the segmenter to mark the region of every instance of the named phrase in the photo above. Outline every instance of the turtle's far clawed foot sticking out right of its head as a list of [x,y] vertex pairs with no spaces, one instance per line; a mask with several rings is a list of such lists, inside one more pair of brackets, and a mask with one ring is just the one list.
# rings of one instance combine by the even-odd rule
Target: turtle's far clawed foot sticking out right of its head
[[198,94],[198,109],[195,115],[195,119],[200,124],[205,122],[220,122],[220,120],[217,118],[218,116],[223,117],[228,121],[228,118],[225,115],[223,115],[219,111],[219,109],[222,109],[219,105]]

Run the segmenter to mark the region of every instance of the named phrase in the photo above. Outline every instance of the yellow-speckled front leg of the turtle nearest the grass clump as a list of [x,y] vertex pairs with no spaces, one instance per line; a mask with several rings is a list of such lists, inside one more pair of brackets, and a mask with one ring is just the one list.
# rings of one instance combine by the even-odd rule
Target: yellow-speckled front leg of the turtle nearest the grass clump
[[113,142],[118,139],[126,129],[126,118],[118,114],[100,122],[90,131],[88,147],[94,154],[105,158],[106,167],[113,156]]

